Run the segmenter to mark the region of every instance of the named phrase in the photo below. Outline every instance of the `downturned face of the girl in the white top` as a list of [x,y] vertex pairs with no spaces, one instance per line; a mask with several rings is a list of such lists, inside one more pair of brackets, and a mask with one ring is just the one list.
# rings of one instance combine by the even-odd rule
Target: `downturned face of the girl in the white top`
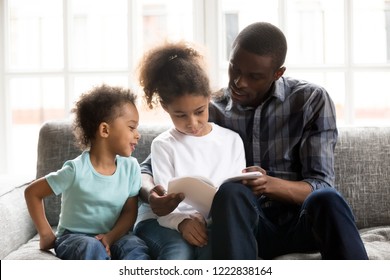
[[202,95],[185,94],[162,107],[169,114],[179,132],[203,136],[211,131],[209,119],[210,98]]

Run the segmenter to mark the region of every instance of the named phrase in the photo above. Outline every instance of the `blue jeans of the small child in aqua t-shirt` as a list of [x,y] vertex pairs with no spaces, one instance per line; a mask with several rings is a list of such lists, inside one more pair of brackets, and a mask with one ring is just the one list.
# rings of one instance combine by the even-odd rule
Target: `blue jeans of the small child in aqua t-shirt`
[[57,257],[63,260],[148,260],[148,247],[129,233],[110,247],[111,258],[101,241],[94,235],[65,231],[55,242]]

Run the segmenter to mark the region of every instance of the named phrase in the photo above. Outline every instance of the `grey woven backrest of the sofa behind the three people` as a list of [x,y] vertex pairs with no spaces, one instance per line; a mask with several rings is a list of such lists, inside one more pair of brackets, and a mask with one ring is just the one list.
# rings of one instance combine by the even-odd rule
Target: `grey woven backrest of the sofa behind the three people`
[[[142,162],[151,141],[169,125],[142,124],[141,139],[133,153]],[[78,156],[69,121],[45,123],[39,135],[37,178],[56,171]],[[390,225],[390,127],[339,128],[335,150],[336,188],[355,214],[359,228]],[[58,224],[60,197],[45,199],[47,218]]]

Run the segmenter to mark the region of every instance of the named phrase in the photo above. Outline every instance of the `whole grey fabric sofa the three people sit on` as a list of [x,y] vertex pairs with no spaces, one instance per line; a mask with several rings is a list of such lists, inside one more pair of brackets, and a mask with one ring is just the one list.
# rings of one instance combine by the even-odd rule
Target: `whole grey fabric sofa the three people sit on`
[[[140,127],[133,156],[141,162],[152,139],[167,125]],[[390,127],[340,128],[335,152],[336,186],[350,203],[370,259],[390,260]],[[39,135],[37,178],[80,154],[68,121],[45,123]],[[0,259],[57,259],[39,250],[39,238],[24,200],[27,184],[0,188]],[[58,223],[60,198],[45,200],[50,224]],[[278,259],[319,259],[320,254],[289,254]]]

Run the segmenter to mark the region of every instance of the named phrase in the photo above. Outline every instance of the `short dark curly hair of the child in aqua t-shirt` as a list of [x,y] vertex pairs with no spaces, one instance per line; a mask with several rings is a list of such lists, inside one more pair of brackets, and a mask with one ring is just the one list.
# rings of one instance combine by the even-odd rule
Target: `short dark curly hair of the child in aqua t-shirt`
[[136,106],[135,102],[136,95],[130,89],[105,84],[83,93],[72,109],[75,114],[73,133],[78,146],[81,149],[89,148],[99,125],[119,117],[124,104]]

